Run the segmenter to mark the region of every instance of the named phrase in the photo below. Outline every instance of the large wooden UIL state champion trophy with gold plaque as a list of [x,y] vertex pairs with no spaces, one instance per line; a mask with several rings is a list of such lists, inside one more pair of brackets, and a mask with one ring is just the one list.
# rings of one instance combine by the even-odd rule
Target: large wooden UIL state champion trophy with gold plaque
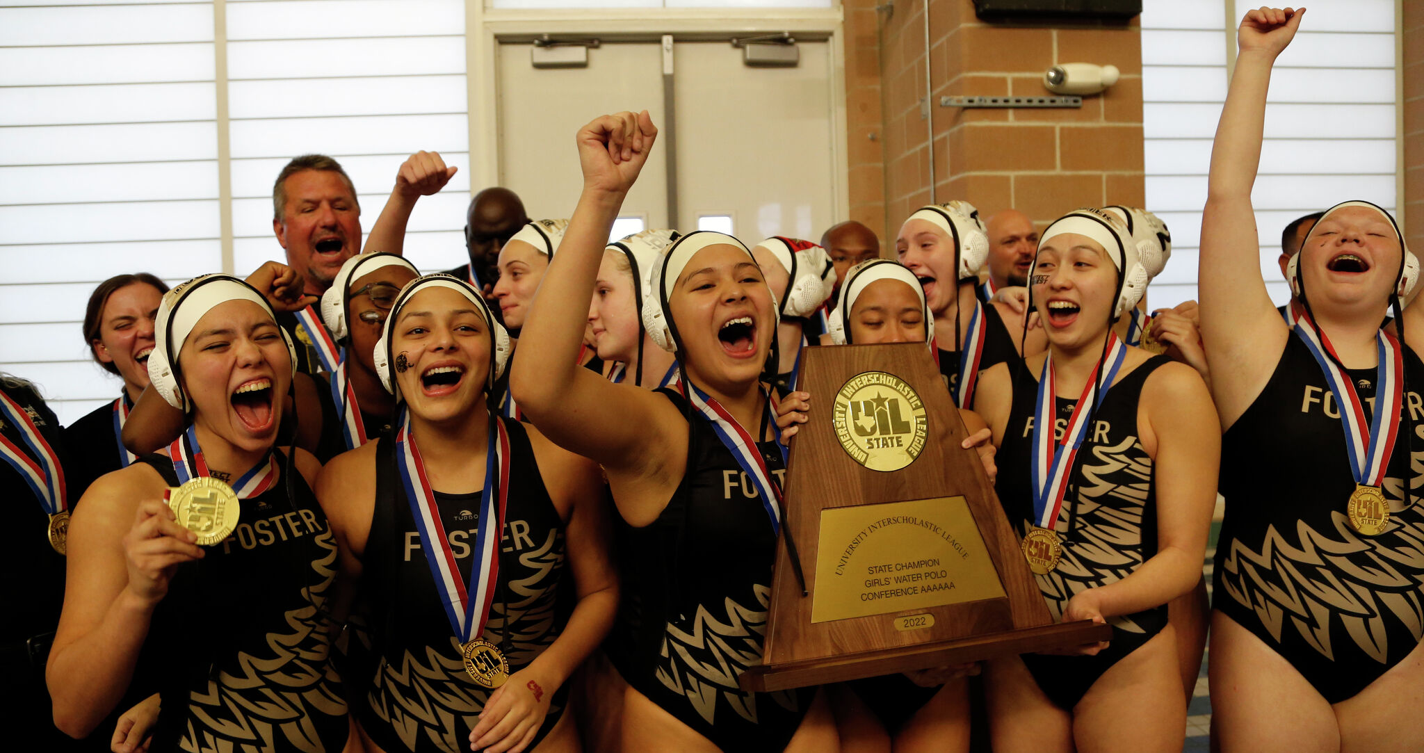
[[923,343],[807,347],[760,666],[782,690],[1106,641],[1054,622]]

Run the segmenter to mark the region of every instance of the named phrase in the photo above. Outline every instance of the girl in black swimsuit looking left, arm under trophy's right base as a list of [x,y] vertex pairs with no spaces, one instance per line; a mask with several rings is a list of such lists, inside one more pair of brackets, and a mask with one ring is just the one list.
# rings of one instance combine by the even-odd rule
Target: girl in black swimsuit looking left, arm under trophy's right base
[[991,660],[994,749],[1180,750],[1166,604],[1202,575],[1219,461],[1210,399],[1190,367],[1112,335],[1146,273],[1111,215],[1078,209],[1049,225],[1030,283],[1048,352],[985,372],[974,409],[1049,611],[1114,631],[1075,655]]

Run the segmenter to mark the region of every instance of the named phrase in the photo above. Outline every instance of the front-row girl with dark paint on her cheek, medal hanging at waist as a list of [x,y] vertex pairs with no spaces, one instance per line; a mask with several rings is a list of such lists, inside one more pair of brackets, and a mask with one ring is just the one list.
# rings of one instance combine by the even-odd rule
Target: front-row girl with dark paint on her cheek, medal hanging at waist
[[[318,484],[367,605],[375,660],[349,682],[370,750],[577,750],[564,680],[618,602],[602,484],[592,463],[490,410],[507,357],[467,282],[409,283],[376,346],[397,430]],[[504,666],[491,676],[486,659]]]

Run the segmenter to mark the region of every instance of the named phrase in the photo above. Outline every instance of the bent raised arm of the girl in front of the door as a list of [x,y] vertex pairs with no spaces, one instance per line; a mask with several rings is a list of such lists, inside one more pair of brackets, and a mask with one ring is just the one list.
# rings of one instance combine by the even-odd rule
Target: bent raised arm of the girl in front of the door
[[686,436],[662,396],[574,363],[608,233],[656,135],[646,111],[604,115],[578,131],[584,192],[524,320],[510,374],[530,421],[560,447],[602,464],[611,480],[618,471],[661,470],[666,448]]

